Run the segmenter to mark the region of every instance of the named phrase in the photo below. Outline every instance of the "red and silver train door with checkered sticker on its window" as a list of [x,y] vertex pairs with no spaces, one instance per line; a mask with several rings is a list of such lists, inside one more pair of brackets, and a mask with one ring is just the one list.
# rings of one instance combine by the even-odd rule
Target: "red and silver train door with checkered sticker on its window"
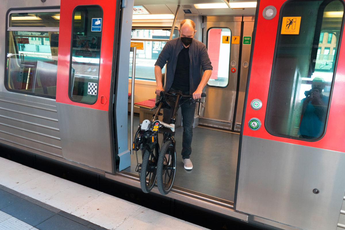
[[56,102],[63,158],[106,172],[115,171],[109,102],[116,3],[61,0],[60,11]]

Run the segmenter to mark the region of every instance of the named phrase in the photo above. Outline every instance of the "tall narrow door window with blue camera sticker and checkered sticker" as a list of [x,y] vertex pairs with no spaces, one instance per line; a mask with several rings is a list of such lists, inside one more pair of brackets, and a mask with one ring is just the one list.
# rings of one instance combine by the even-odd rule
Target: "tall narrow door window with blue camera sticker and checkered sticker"
[[[70,96],[72,101],[93,104],[97,101],[102,31],[92,31],[92,21],[101,26],[99,6],[78,7],[74,13]],[[101,28],[101,27],[100,27]]]

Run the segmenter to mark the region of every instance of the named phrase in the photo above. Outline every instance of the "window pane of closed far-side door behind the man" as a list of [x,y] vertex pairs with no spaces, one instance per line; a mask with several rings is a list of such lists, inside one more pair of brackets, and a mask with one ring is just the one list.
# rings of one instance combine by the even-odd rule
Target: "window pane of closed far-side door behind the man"
[[231,31],[228,28],[211,28],[207,33],[207,51],[213,70],[208,86],[226,87],[229,82]]

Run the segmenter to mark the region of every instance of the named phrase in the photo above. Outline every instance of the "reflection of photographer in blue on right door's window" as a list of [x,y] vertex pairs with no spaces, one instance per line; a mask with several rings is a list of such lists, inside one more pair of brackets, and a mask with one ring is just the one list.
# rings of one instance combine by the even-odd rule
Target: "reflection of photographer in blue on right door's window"
[[315,139],[322,134],[329,97],[322,94],[325,88],[323,78],[313,79],[312,89],[305,91],[302,99],[302,117],[298,134],[301,138]]

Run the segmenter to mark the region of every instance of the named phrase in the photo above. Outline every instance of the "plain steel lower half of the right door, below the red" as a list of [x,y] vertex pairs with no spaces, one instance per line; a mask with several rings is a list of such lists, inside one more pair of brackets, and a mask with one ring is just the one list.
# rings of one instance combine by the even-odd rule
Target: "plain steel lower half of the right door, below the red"
[[242,138],[236,210],[300,229],[336,229],[345,191],[343,152]]

